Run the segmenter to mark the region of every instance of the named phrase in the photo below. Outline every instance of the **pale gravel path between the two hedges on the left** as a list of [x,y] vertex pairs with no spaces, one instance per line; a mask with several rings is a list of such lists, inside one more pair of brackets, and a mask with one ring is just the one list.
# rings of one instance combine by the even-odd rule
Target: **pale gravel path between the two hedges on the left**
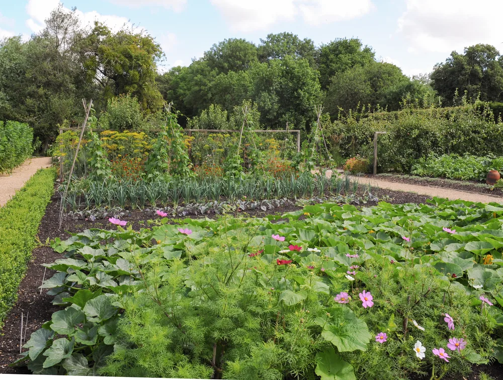
[[12,175],[0,175],[0,207],[6,204],[16,194],[16,191],[21,189],[37,170],[48,168],[51,165],[52,159],[50,157],[33,158],[26,160],[14,169]]

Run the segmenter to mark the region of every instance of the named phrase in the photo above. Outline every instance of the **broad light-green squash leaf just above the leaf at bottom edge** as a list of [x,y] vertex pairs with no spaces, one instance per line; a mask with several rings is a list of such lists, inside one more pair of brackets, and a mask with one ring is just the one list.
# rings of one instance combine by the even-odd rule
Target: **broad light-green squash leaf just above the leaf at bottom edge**
[[330,319],[321,336],[336,346],[340,352],[367,349],[372,335],[367,324],[358,319],[353,311],[345,306],[326,310]]

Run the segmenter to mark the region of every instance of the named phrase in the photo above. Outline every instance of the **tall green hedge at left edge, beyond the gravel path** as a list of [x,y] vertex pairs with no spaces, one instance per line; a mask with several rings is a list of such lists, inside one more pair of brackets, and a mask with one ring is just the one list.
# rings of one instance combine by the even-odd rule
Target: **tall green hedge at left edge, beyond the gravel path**
[[0,173],[10,172],[33,154],[33,129],[17,121],[0,121]]

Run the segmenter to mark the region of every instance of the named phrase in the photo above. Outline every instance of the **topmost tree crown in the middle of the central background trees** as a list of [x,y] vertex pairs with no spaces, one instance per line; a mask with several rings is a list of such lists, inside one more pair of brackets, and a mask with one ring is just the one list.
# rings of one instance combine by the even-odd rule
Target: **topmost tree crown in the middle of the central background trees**
[[304,58],[314,67],[314,43],[309,38],[301,40],[293,33],[268,34],[267,38],[260,39],[261,44],[258,48],[259,60],[268,62],[271,59],[282,59],[286,55],[296,58]]

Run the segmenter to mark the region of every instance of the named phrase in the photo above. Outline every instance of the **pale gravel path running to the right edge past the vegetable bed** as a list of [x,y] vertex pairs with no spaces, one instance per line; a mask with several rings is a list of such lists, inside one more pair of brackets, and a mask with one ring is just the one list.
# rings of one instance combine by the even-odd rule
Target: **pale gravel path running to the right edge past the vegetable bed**
[[[332,175],[331,170],[326,171],[326,176],[330,178]],[[381,189],[388,189],[394,191],[405,191],[408,193],[416,193],[421,195],[428,195],[430,197],[447,198],[450,200],[462,199],[470,202],[482,202],[490,203],[496,202],[503,204],[503,198],[493,195],[479,194],[471,191],[464,190],[453,190],[446,189],[442,187],[435,186],[420,186],[420,185],[410,185],[406,183],[390,182],[383,180],[376,180],[367,177],[355,177],[351,176],[351,179],[358,180],[360,184],[371,184],[372,186],[377,186]]]

